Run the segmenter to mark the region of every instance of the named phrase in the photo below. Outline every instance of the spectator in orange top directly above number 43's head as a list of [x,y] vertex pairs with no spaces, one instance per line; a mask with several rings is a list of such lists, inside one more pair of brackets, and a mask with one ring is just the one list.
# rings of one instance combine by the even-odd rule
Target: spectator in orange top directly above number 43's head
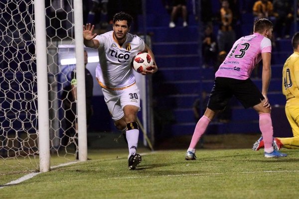
[[257,18],[268,18],[273,16],[273,4],[270,0],[257,0],[253,5],[253,15]]

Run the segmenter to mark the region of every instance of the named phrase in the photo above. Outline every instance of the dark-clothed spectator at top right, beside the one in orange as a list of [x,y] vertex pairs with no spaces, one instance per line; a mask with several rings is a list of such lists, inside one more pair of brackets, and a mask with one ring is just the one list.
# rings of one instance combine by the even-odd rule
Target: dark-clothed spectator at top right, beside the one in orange
[[293,0],[273,1],[273,12],[275,16],[274,32],[276,33],[277,40],[282,37],[285,37],[286,39],[290,38],[293,10]]

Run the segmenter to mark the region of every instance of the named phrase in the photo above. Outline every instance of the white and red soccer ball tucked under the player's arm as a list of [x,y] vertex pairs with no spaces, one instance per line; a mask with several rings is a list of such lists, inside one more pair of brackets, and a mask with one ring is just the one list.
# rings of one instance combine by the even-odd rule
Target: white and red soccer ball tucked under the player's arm
[[133,68],[136,72],[142,73],[143,71],[151,71],[153,61],[149,53],[140,52],[133,60]]

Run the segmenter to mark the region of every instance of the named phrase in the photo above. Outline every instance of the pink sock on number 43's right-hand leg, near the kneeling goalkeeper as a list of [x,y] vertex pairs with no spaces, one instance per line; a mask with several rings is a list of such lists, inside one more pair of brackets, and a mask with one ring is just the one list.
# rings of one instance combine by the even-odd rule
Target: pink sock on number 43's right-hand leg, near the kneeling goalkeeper
[[273,127],[270,113],[260,114],[260,130],[263,135],[265,150],[272,148]]

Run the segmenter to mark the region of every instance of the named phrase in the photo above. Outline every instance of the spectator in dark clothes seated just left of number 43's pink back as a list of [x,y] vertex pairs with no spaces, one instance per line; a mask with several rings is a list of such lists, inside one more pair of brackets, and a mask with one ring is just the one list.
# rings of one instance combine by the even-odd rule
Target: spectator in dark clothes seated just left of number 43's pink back
[[203,40],[202,40],[202,58],[203,68],[214,67],[217,57],[217,42],[213,34],[213,26],[209,24],[205,27]]

